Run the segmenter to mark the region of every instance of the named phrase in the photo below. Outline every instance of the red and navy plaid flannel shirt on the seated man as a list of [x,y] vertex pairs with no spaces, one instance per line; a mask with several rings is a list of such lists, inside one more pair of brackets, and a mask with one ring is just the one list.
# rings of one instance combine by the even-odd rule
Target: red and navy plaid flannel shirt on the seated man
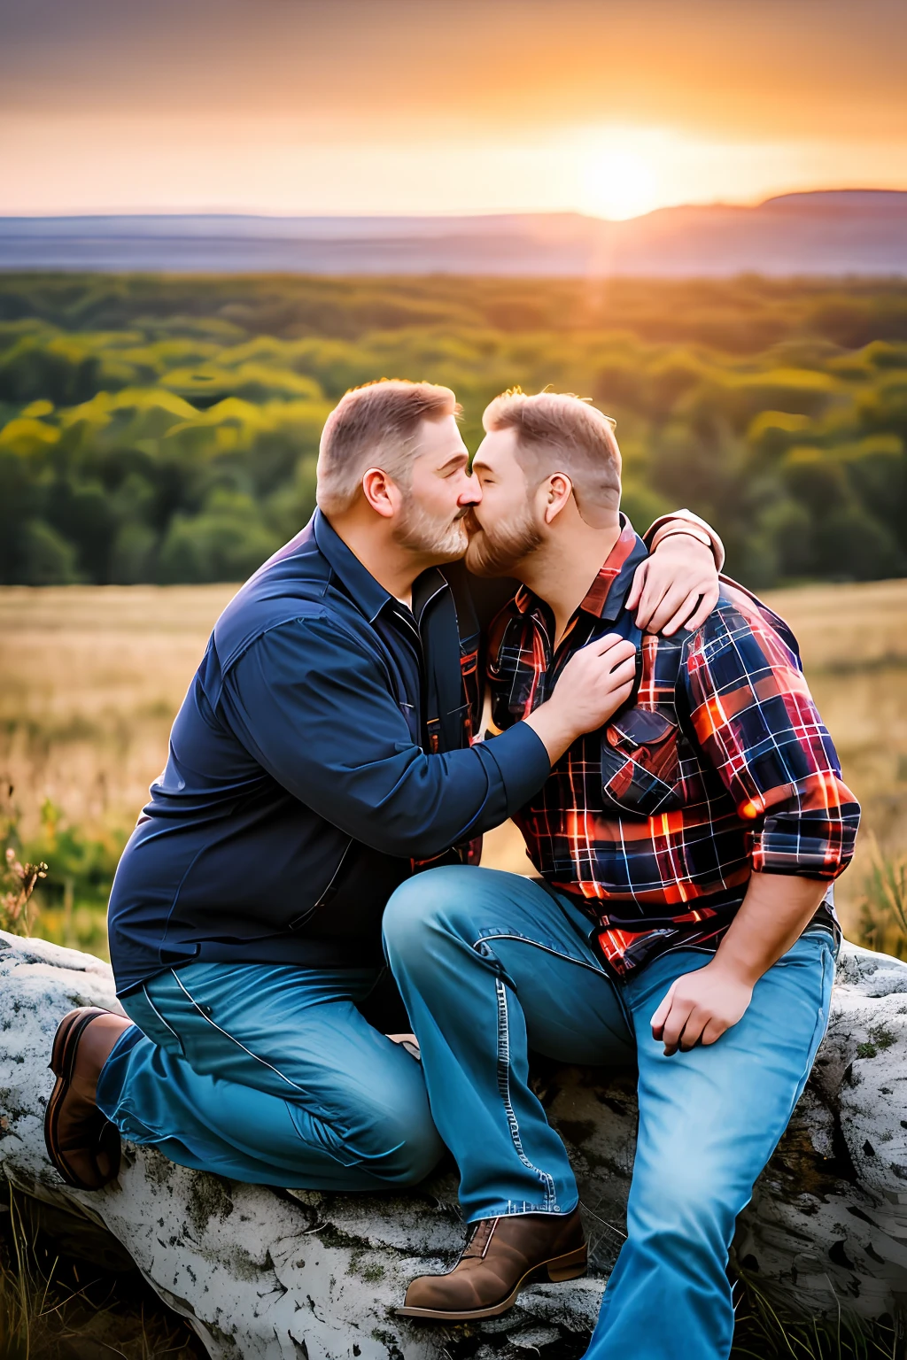
[[783,620],[722,581],[695,632],[639,639],[624,600],[645,556],[626,522],[556,654],[551,609],[526,588],[488,646],[502,730],[544,702],[578,647],[615,631],[640,642],[638,696],[575,741],[515,817],[538,873],[596,918],[617,972],[717,948],[753,870],[835,879],[859,821]]

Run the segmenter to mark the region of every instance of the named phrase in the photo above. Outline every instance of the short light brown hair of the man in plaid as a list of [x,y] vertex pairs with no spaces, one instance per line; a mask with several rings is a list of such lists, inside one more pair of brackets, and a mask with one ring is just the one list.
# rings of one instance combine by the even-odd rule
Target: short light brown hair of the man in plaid
[[[515,431],[519,462],[536,484],[553,472],[566,472],[579,513],[589,522],[596,511],[617,511],[620,449],[615,423],[586,397],[572,392],[530,396],[511,388],[485,407],[481,423],[488,431]],[[583,514],[583,509],[589,514]]]

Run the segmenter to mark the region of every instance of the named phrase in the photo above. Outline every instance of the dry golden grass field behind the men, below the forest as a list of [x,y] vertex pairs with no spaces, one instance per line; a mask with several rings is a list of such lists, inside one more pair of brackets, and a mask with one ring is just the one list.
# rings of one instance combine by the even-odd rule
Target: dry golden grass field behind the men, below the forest
[[[163,766],[170,722],[233,590],[0,589],[0,779],[5,812],[18,811],[23,839],[42,834],[41,809],[49,800],[58,809],[50,815],[53,834],[69,827],[97,838],[116,860]],[[887,851],[904,850],[907,581],[806,586],[767,598],[801,639],[844,778],[863,804],[866,832]],[[44,832],[48,816],[45,811]],[[840,884],[846,925],[855,923],[869,840],[863,834]],[[513,827],[487,838],[485,862],[526,868]],[[71,891],[69,919],[72,907]],[[57,908],[50,902],[48,918],[58,936]],[[80,929],[78,938],[103,949],[99,923]]]

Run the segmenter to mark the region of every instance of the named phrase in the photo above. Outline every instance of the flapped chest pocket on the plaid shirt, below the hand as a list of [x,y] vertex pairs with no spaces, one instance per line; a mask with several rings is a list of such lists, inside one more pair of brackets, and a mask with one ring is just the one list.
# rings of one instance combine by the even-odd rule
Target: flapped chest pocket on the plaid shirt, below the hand
[[627,709],[601,734],[605,812],[651,817],[680,806],[680,729],[673,710]]

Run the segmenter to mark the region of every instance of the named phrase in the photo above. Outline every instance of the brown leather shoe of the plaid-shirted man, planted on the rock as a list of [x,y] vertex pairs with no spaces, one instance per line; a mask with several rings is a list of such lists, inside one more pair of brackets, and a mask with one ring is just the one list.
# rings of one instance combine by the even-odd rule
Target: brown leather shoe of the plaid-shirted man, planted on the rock
[[419,1276],[396,1312],[401,1318],[465,1322],[496,1318],[530,1280],[575,1280],[586,1273],[587,1250],[579,1209],[480,1219],[466,1250],[443,1276]]

